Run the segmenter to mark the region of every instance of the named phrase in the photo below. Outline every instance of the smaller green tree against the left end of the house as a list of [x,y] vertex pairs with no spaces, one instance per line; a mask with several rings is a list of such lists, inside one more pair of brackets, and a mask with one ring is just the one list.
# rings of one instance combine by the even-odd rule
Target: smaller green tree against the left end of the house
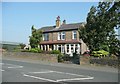
[[39,43],[42,39],[42,31],[35,29],[34,25],[31,28],[32,35],[30,36],[29,42],[32,48],[38,48]]

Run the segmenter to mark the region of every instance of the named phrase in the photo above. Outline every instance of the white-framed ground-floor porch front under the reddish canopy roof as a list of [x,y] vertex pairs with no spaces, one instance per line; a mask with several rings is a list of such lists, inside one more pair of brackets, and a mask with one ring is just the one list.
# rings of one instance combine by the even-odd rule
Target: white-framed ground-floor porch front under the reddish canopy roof
[[41,44],[40,49],[44,51],[59,50],[61,53],[70,54],[72,56],[75,51],[77,54],[81,54],[81,45],[77,44]]

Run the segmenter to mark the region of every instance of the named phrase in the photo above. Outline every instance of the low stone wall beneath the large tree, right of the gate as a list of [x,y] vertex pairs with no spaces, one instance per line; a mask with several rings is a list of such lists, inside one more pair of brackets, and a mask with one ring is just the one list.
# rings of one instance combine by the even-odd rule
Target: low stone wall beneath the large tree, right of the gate
[[80,65],[95,65],[95,66],[111,66],[111,67],[119,67],[119,60],[117,58],[94,58],[88,56],[80,57]]

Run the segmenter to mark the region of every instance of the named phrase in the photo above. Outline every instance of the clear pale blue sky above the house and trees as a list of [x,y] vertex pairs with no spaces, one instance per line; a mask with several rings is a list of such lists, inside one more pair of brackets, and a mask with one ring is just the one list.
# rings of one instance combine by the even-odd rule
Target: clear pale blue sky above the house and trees
[[98,2],[3,2],[2,40],[29,43],[31,27],[39,29],[55,25],[57,16],[61,22],[86,22],[91,6]]

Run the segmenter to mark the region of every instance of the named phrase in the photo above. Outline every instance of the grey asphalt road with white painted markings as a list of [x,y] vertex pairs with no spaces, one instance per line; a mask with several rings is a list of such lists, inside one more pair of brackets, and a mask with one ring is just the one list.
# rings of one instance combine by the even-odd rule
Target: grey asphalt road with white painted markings
[[[116,69],[2,60],[3,82],[118,82]],[[108,70],[108,71],[107,71]],[[114,71],[116,70],[116,71]]]

